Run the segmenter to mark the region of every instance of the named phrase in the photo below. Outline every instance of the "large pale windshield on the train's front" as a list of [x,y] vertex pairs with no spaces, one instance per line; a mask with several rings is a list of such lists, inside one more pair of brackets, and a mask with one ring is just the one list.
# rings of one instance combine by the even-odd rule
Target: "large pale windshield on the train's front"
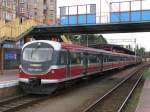
[[51,61],[53,48],[25,48],[23,51],[23,60],[30,62]]

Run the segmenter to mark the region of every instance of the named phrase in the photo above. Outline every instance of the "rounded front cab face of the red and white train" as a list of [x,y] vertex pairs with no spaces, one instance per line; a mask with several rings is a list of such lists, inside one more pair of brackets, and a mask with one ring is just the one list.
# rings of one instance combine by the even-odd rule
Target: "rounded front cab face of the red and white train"
[[[49,93],[57,88],[57,80],[49,80],[53,77],[51,70],[56,68],[57,51],[53,46],[45,42],[33,42],[22,50],[19,85],[26,93]],[[54,83],[51,83],[54,82]]]

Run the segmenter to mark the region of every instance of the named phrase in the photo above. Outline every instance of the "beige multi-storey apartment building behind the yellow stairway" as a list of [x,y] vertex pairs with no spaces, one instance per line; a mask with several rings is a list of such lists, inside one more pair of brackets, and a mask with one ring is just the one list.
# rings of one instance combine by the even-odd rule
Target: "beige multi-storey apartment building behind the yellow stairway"
[[12,21],[16,17],[20,22],[35,18],[46,24],[56,23],[56,0],[0,0],[0,19]]

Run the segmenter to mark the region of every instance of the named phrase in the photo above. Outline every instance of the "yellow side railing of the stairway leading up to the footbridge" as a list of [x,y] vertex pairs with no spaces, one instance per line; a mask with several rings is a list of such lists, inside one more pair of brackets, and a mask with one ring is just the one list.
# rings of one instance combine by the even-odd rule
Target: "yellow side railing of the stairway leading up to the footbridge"
[[20,23],[19,18],[16,18],[12,22],[5,23],[1,25],[0,23],[0,40],[5,40],[5,38],[17,39],[19,35],[30,29],[31,27],[40,24],[34,18],[28,19]]

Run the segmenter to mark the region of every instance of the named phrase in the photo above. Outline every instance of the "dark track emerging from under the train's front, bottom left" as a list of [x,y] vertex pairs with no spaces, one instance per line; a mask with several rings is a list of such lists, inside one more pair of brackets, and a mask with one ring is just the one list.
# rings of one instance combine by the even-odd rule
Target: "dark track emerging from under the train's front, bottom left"
[[20,95],[5,99],[0,101],[0,112],[14,112],[39,101],[46,100],[48,97],[49,96]]

